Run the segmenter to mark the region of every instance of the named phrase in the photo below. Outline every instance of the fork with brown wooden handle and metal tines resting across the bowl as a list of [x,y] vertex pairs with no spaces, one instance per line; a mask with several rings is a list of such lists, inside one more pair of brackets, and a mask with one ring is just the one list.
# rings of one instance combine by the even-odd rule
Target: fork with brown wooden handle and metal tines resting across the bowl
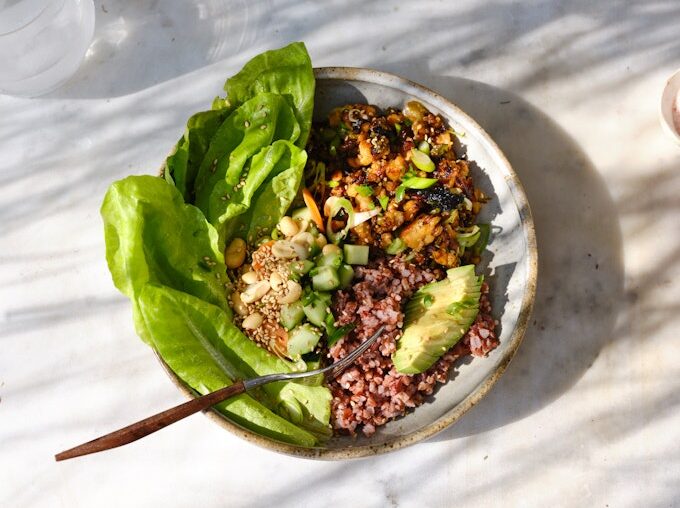
[[133,441],[137,441],[149,434],[161,430],[168,425],[175,423],[189,415],[208,409],[215,404],[218,404],[230,397],[240,395],[258,386],[275,381],[290,381],[294,379],[303,379],[312,376],[323,375],[326,380],[337,377],[349,365],[354,363],[361,354],[366,351],[373,343],[378,340],[378,337],[385,329],[384,326],[378,328],[378,331],[371,336],[367,341],[363,342],[359,347],[352,351],[342,360],[339,360],[332,365],[322,369],[310,370],[308,372],[294,372],[290,374],[269,374],[266,376],[255,377],[238,381],[230,386],[225,386],[214,392],[202,395],[188,402],[175,406],[161,413],[140,420],[132,425],[123,427],[122,429],[106,434],[87,443],[71,448],[69,450],[58,453],[54,456],[57,461],[72,459],[80,457],[81,455],[88,455],[90,453],[101,452],[117,448]]

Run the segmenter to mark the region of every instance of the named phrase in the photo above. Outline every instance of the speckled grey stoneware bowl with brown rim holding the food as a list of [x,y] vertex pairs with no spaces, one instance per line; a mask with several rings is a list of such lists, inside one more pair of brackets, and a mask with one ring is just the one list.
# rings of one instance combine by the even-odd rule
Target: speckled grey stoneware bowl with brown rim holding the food
[[[492,236],[478,273],[487,276],[500,346],[487,358],[458,364],[453,379],[440,386],[424,405],[378,427],[370,438],[337,437],[323,448],[302,448],[260,436],[231,422],[216,411],[208,418],[254,444],[270,450],[315,459],[348,459],[397,450],[427,439],[458,420],[491,389],[517,351],[527,327],[536,291],[537,252],[534,224],[524,190],[498,146],[467,114],[447,99],[405,79],[369,69],[315,69],[315,119],[348,103],[403,107],[419,100],[440,113],[457,132],[464,133],[458,152],[472,164],[475,184],[491,196],[479,222],[492,224]],[[195,393],[163,363],[172,380],[188,397]]]

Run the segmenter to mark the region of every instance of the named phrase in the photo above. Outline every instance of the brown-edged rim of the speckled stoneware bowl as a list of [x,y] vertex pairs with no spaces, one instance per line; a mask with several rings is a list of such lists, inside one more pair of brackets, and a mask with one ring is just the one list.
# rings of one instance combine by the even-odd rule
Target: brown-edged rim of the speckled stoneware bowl
[[[315,67],[314,77],[319,80],[340,80],[340,81],[366,81],[370,83],[375,83],[384,86],[396,86],[402,91],[414,98],[429,98],[434,99],[436,103],[443,104],[446,108],[455,112],[458,117],[465,118],[466,122],[473,125],[478,133],[478,135],[483,138],[484,142],[495,151],[495,155],[500,159],[502,165],[505,166],[506,174],[504,175],[505,180],[510,187],[511,194],[516,201],[516,205],[519,210],[521,223],[525,232],[525,240],[527,245],[527,280],[526,280],[526,291],[524,293],[524,298],[522,300],[522,305],[520,307],[519,314],[517,316],[517,322],[515,328],[508,340],[508,349],[499,363],[499,365],[491,371],[484,380],[477,385],[477,387],[469,393],[458,405],[448,411],[446,414],[430,423],[418,429],[414,432],[395,436],[386,442],[380,444],[366,444],[359,446],[352,446],[349,448],[306,448],[302,446],[296,446],[288,443],[283,443],[260,434],[256,434],[240,425],[232,422],[226,416],[218,413],[216,410],[210,408],[203,413],[205,416],[217,423],[221,427],[227,429],[232,434],[244,439],[250,443],[253,443],[261,448],[265,448],[277,453],[282,453],[285,455],[291,455],[296,457],[302,457],[307,459],[317,459],[317,460],[344,460],[344,459],[355,459],[361,457],[368,457],[379,455],[383,453],[388,453],[391,451],[399,450],[407,446],[413,445],[419,441],[423,441],[431,438],[435,434],[448,428],[456,421],[460,419],[467,411],[470,410],[474,405],[476,405],[491,389],[491,387],[498,381],[500,376],[503,374],[508,364],[515,356],[519,345],[522,342],[524,334],[529,324],[529,319],[531,317],[531,312],[533,310],[534,299],[536,296],[536,284],[538,278],[538,251],[536,244],[536,231],[534,226],[533,217],[531,214],[531,208],[529,206],[529,201],[527,200],[526,193],[522,184],[519,181],[519,177],[512,169],[510,162],[501,149],[498,147],[495,141],[489,136],[489,134],[482,129],[482,127],[474,121],[467,113],[462,111],[453,102],[445,98],[444,96],[438,94],[437,92],[430,90],[429,88],[415,83],[414,81],[402,78],[395,74],[377,71],[374,69],[367,69],[361,67]],[[161,174],[163,173],[165,167],[161,168]],[[177,386],[177,388],[184,394],[185,397],[192,399],[196,398],[197,393],[189,388],[184,381],[182,381],[170,367],[163,361],[158,352],[154,350],[154,354],[158,361],[160,362],[163,370],[170,377],[171,381]]]

